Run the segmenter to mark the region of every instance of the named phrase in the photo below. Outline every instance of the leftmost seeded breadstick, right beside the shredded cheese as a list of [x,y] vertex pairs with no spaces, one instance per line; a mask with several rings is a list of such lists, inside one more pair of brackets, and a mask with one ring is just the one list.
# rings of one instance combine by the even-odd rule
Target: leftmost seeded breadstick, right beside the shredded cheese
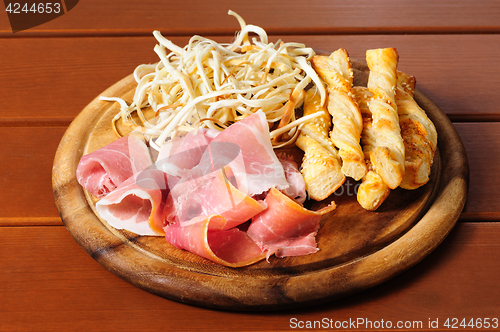
[[340,158],[328,139],[331,118],[321,106],[321,97],[316,89],[306,92],[304,116],[322,111],[319,117],[306,122],[295,144],[304,151],[301,173],[306,183],[309,197],[320,201],[337,190],[345,181],[341,171]]

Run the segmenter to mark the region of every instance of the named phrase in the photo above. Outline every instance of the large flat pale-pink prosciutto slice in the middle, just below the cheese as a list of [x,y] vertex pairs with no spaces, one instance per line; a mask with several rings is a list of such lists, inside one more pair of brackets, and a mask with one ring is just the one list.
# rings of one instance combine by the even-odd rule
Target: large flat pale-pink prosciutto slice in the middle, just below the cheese
[[[234,211],[231,212],[233,216],[228,218],[230,224],[242,223],[246,221],[243,218],[248,220],[253,216],[241,211],[242,206],[248,207],[249,196],[266,192],[271,187],[290,187],[283,165],[272,148],[269,127],[262,111],[232,124],[214,138],[203,135],[206,134],[201,133],[199,138],[200,134],[187,135],[184,139],[188,143],[184,139],[178,141],[176,144],[180,148],[174,153],[168,152],[173,150],[171,148],[160,153],[159,161],[175,162],[182,151],[193,151],[196,158],[192,160],[199,160],[190,170],[179,172],[180,179],[175,186],[171,186],[168,201],[173,206],[167,206],[166,213],[169,222],[185,222],[212,214],[228,218],[227,214]],[[204,146],[207,142],[208,145]],[[176,166],[179,164],[176,162]],[[221,170],[223,173],[220,173]],[[223,181],[221,174],[225,176]],[[262,208],[262,203],[252,201],[255,208]],[[228,206],[229,203],[232,206]],[[240,220],[236,220],[235,216]]]

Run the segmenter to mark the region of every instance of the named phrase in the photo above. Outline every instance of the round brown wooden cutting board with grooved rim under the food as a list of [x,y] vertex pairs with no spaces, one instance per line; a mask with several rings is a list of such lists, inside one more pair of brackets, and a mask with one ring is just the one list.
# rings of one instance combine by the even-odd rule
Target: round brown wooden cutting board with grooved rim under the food
[[[368,69],[353,61],[355,85],[366,85]],[[131,101],[136,83],[128,76],[102,93]],[[415,100],[438,131],[438,151],[430,181],[396,189],[376,212],[356,201],[357,183],[346,183],[318,209],[323,216],[319,252],[269,258],[244,268],[215,264],[179,250],[163,237],[116,230],[95,213],[95,200],[76,181],[80,158],[116,139],[111,118],[116,103],[92,101],[64,134],[53,167],[56,205],[68,231],[100,264],[130,283],[168,299],[227,310],[283,309],[332,301],[380,284],[412,267],[448,235],[467,197],[468,164],[453,125],[418,90]],[[300,156],[299,156],[300,157]]]

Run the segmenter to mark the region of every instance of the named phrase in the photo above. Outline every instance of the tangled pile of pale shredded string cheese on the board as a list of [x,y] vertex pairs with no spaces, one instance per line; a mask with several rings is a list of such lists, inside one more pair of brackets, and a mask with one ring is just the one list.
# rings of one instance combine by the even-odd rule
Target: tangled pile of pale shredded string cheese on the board
[[[117,134],[115,123],[121,118],[124,124],[139,127],[150,137],[151,146],[159,149],[180,132],[199,126],[223,130],[262,110],[272,128],[273,146],[278,148],[295,140],[301,123],[319,115],[301,119],[295,115],[310,82],[318,87],[322,103],[326,101],[325,87],[309,63],[314,50],[299,43],[270,43],[264,29],[247,25],[232,11],[229,15],[241,26],[231,44],[193,36],[181,48],[159,31],[153,32],[160,61],[135,69],[132,104],[101,97],[120,104],[121,111],[112,121]],[[258,39],[250,41],[251,33]],[[157,114],[153,121],[143,114],[147,107]],[[134,112],[140,124],[133,121]]]

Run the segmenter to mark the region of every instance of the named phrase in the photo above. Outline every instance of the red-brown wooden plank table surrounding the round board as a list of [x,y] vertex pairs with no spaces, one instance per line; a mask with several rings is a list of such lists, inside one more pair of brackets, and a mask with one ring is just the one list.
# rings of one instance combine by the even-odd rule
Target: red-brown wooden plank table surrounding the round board
[[[364,324],[344,328],[362,330],[368,321],[381,327],[382,320],[407,330],[438,320],[440,330],[448,330],[448,319],[500,319],[500,2],[227,6],[219,0],[86,0],[15,34],[0,13],[0,331],[285,331],[314,321],[328,321],[332,329],[357,321]],[[228,9],[266,29],[271,40],[325,51],[342,47],[358,59],[369,48],[396,47],[399,68],[416,76],[417,87],[454,122],[469,160],[468,202],[451,234],[417,266],[326,305],[225,312],[138,289],[73,240],[51,188],[54,154],[69,123],[138,64],[157,61],[154,29],[178,45],[193,34],[231,41],[239,26]]]

